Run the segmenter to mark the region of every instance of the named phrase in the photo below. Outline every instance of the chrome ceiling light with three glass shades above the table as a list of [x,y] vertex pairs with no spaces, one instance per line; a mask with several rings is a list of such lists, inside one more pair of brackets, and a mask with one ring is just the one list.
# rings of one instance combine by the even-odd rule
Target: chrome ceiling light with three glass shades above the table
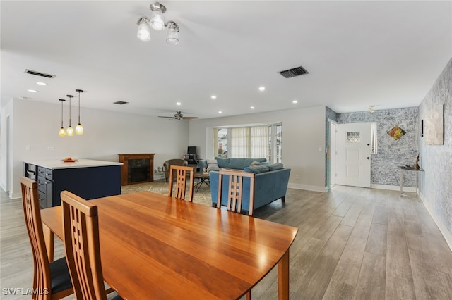
[[168,27],[167,43],[172,45],[179,44],[179,26],[174,21],[168,21],[165,24],[165,20],[163,20],[163,14],[167,11],[167,8],[159,2],[150,4],[149,8],[153,11],[152,18],[141,17],[138,19],[136,37],[143,42],[150,41],[150,28],[162,31],[165,27]]

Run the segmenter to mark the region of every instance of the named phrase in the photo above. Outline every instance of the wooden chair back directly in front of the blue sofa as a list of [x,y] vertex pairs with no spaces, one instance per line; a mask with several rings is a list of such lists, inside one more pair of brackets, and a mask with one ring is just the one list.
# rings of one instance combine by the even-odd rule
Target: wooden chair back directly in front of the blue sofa
[[[255,173],[234,171],[234,170],[219,170],[218,172],[218,198],[217,208],[221,207],[222,193],[227,193],[227,210],[235,213],[242,212],[243,199],[243,182],[245,177],[249,177],[249,209],[248,215],[254,214],[254,180]],[[229,175],[227,191],[222,190],[223,176]]]

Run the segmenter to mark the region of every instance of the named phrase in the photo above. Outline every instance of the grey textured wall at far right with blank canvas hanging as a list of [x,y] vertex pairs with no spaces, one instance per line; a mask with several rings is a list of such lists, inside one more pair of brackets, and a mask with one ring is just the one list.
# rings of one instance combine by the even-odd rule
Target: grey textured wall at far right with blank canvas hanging
[[419,106],[419,119],[425,120],[433,106],[444,105],[444,145],[424,145],[419,137],[420,194],[452,235],[452,59]]

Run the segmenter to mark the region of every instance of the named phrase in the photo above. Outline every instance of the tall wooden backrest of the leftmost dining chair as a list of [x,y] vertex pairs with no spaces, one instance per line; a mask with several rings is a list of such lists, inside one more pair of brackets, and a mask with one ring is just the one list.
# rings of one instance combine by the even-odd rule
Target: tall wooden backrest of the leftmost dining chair
[[52,277],[50,274],[49,257],[42,230],[40,199],[37,192],[37,182],[28,177],[20,177],[22,189],[23,214],[25,225],[30,238],[33,254],[33,286],[37,294],[32,299],[61,299],[73,293],[73,289],[64,289],[58,293],[52,293]]

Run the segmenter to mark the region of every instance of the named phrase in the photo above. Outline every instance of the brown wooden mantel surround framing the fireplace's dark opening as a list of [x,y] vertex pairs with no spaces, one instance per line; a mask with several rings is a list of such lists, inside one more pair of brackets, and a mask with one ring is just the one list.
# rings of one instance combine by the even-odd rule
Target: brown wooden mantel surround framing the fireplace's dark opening
[[[141,182],[150,182],[154,181],[154,153],[146,153],[146,154],[118,154],[119,162],[123,163],[121,165],[121,185],[133,185]],[[133,163],[129,163],[133,160],[145,160],[145,167],[148,168],[148,172],[146,174],[146,178],[139,181],[131,180],[131,165]],[[148,161],[148,162],[147,162]],[[142,164],[143,161],[140,161]]]

